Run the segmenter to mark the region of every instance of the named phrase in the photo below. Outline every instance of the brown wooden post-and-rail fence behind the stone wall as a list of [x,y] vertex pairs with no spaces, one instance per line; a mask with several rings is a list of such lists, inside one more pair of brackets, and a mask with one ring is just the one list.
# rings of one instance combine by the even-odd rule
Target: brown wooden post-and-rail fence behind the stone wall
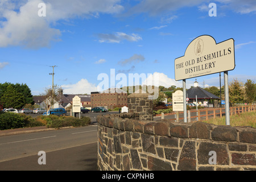
[[[245,112],[255,112],[256,105],[247,105],[247,106],[236,106],[236,107],[229,107],[229,114],[234,115],[238,113],[245,113]],[[183,121],[183,111],[173,111],[172,113],[168,114],[156,114],[156,116],[161,116],[162,119],[166,118],[168,121],[176,121],[181,122]],[[192,109],[187,110],[187,121],[205,121],[209,118],[216,118],[216,117],[223,117],[225,115],[225,108],[204,108],[204,109]]]

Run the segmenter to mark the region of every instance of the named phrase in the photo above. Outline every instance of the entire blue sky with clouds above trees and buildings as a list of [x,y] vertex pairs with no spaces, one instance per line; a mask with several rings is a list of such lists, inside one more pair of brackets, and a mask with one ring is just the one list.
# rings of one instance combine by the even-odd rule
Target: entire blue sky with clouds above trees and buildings
[[[46,16],[38,15],[39,3]],[[208,14],[210,3],[216,16]],[[98,75],[110,69],[159,73],[160,85],[181,87],[174,60],[200,35],[217,43],[233,38],[229,81],[256,82],[256,1],[0,0],[0,82],[26,83],[38,95],[52,85],[56,65],[54,83],[69,94],[97,91]],[[195,79],[201,87],[220,85],[216,73],[188,79],[187,88]]]

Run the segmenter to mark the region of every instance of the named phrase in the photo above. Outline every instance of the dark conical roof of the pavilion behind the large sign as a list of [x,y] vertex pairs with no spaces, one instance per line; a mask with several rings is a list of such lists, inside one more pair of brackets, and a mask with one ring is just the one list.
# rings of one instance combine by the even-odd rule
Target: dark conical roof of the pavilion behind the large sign
[[197,96],[197,99],[199,98],[216,98],[220,99],[220,97],[215,96],[214,94],[207,92],[207,90],[200,88],[199,86],[192,87],[187,90],[187,97],[190,99],[195,99]]

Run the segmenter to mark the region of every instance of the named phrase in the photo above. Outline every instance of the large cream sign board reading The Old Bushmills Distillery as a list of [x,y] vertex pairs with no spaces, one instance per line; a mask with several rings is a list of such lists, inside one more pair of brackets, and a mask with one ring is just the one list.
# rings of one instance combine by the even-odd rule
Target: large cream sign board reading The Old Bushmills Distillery
[[174,66],[176,81],[233,70],[234,39],[216,44],[212,36],[199,36],[188,45],[184,56],[175,59]]

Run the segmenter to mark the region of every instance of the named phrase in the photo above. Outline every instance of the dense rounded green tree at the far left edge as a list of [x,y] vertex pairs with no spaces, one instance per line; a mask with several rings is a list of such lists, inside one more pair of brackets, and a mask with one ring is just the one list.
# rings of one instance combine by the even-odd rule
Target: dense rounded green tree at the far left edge
[[22,93],[18,92],[15,86],[9,85],[6,88],[5,93],[2,94],[1,102],[3,107],[19,109],[26,104],[26,99]]

